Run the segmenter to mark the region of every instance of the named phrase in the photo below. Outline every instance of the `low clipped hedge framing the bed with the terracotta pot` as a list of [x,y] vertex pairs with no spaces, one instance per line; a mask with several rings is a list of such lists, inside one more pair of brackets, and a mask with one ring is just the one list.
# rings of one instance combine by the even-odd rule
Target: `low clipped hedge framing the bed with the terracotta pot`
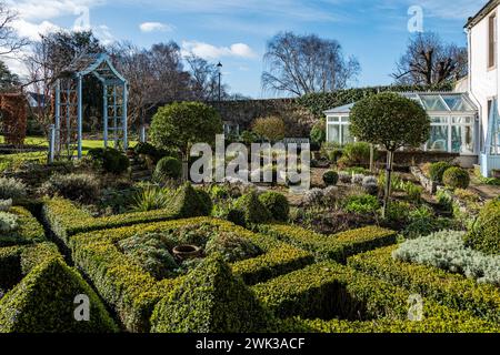
[[154,304],[170,292],[182,276],[158,282],[124,255],[117,247],[117,243],[137,233],[153,233],[206,223],[221,231],[249,237],[264,251],[264,254],[256,258],[231,265],[234,274],[242,276],[248,283],[268,280],[313,262],[312,255],[308,252],[252,233],[230,222],[209,217],[82,233],[71,239],[70,246],[76,265],[92,281],[101,297],[116,310],[123,325],[131,332],[147,332]]

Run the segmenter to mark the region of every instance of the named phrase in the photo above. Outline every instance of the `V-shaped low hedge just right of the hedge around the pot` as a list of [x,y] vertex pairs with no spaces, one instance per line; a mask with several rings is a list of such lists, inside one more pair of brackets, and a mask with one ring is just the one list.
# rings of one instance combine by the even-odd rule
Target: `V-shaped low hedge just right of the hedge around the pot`
[[263,224],[260,231],[297,247],[309,251],[318,261],[344,263],[347,257],[377,247],[394,244],[397,233],[378,226],[322,235],[294,225]]

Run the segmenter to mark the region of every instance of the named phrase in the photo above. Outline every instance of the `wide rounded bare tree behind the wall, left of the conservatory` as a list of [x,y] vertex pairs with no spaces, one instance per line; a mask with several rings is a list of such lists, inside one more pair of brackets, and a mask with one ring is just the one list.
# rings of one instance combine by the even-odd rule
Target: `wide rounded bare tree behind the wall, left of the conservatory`
[[361,70],[356,58],[344,58],[338,41],[316,34],[278,33],[263,60],[262,87],[293,95],[344,89]]

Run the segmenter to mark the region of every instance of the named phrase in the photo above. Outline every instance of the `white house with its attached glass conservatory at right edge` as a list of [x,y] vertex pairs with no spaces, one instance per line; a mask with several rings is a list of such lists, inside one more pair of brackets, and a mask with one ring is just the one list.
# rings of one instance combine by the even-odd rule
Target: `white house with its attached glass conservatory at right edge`
[[[500,170],[500,97],[498,70],[500,0],[489,1],[466,24],[469,45],[469,77],[454,92],[401,93],[420,103],[431,118],[431,136],[422,146],[428,152],[459,153],[460,163],[479,163],[484,176]],[[327,141],[346,144],[353,103],[324,112]]]

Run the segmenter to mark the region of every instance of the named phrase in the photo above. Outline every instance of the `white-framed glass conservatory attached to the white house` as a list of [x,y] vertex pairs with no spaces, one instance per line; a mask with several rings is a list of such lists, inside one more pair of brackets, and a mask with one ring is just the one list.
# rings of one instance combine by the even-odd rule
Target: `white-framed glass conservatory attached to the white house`
[[[467,93],[408,92],[402,95],[421,104],[431,118],[430,140],[422,146],[428,152],[478,155],[478,109]],[[327,115],[327,141],[344,145],[354,141],[349,132],[349,114],[354,103],[334,108]]]

